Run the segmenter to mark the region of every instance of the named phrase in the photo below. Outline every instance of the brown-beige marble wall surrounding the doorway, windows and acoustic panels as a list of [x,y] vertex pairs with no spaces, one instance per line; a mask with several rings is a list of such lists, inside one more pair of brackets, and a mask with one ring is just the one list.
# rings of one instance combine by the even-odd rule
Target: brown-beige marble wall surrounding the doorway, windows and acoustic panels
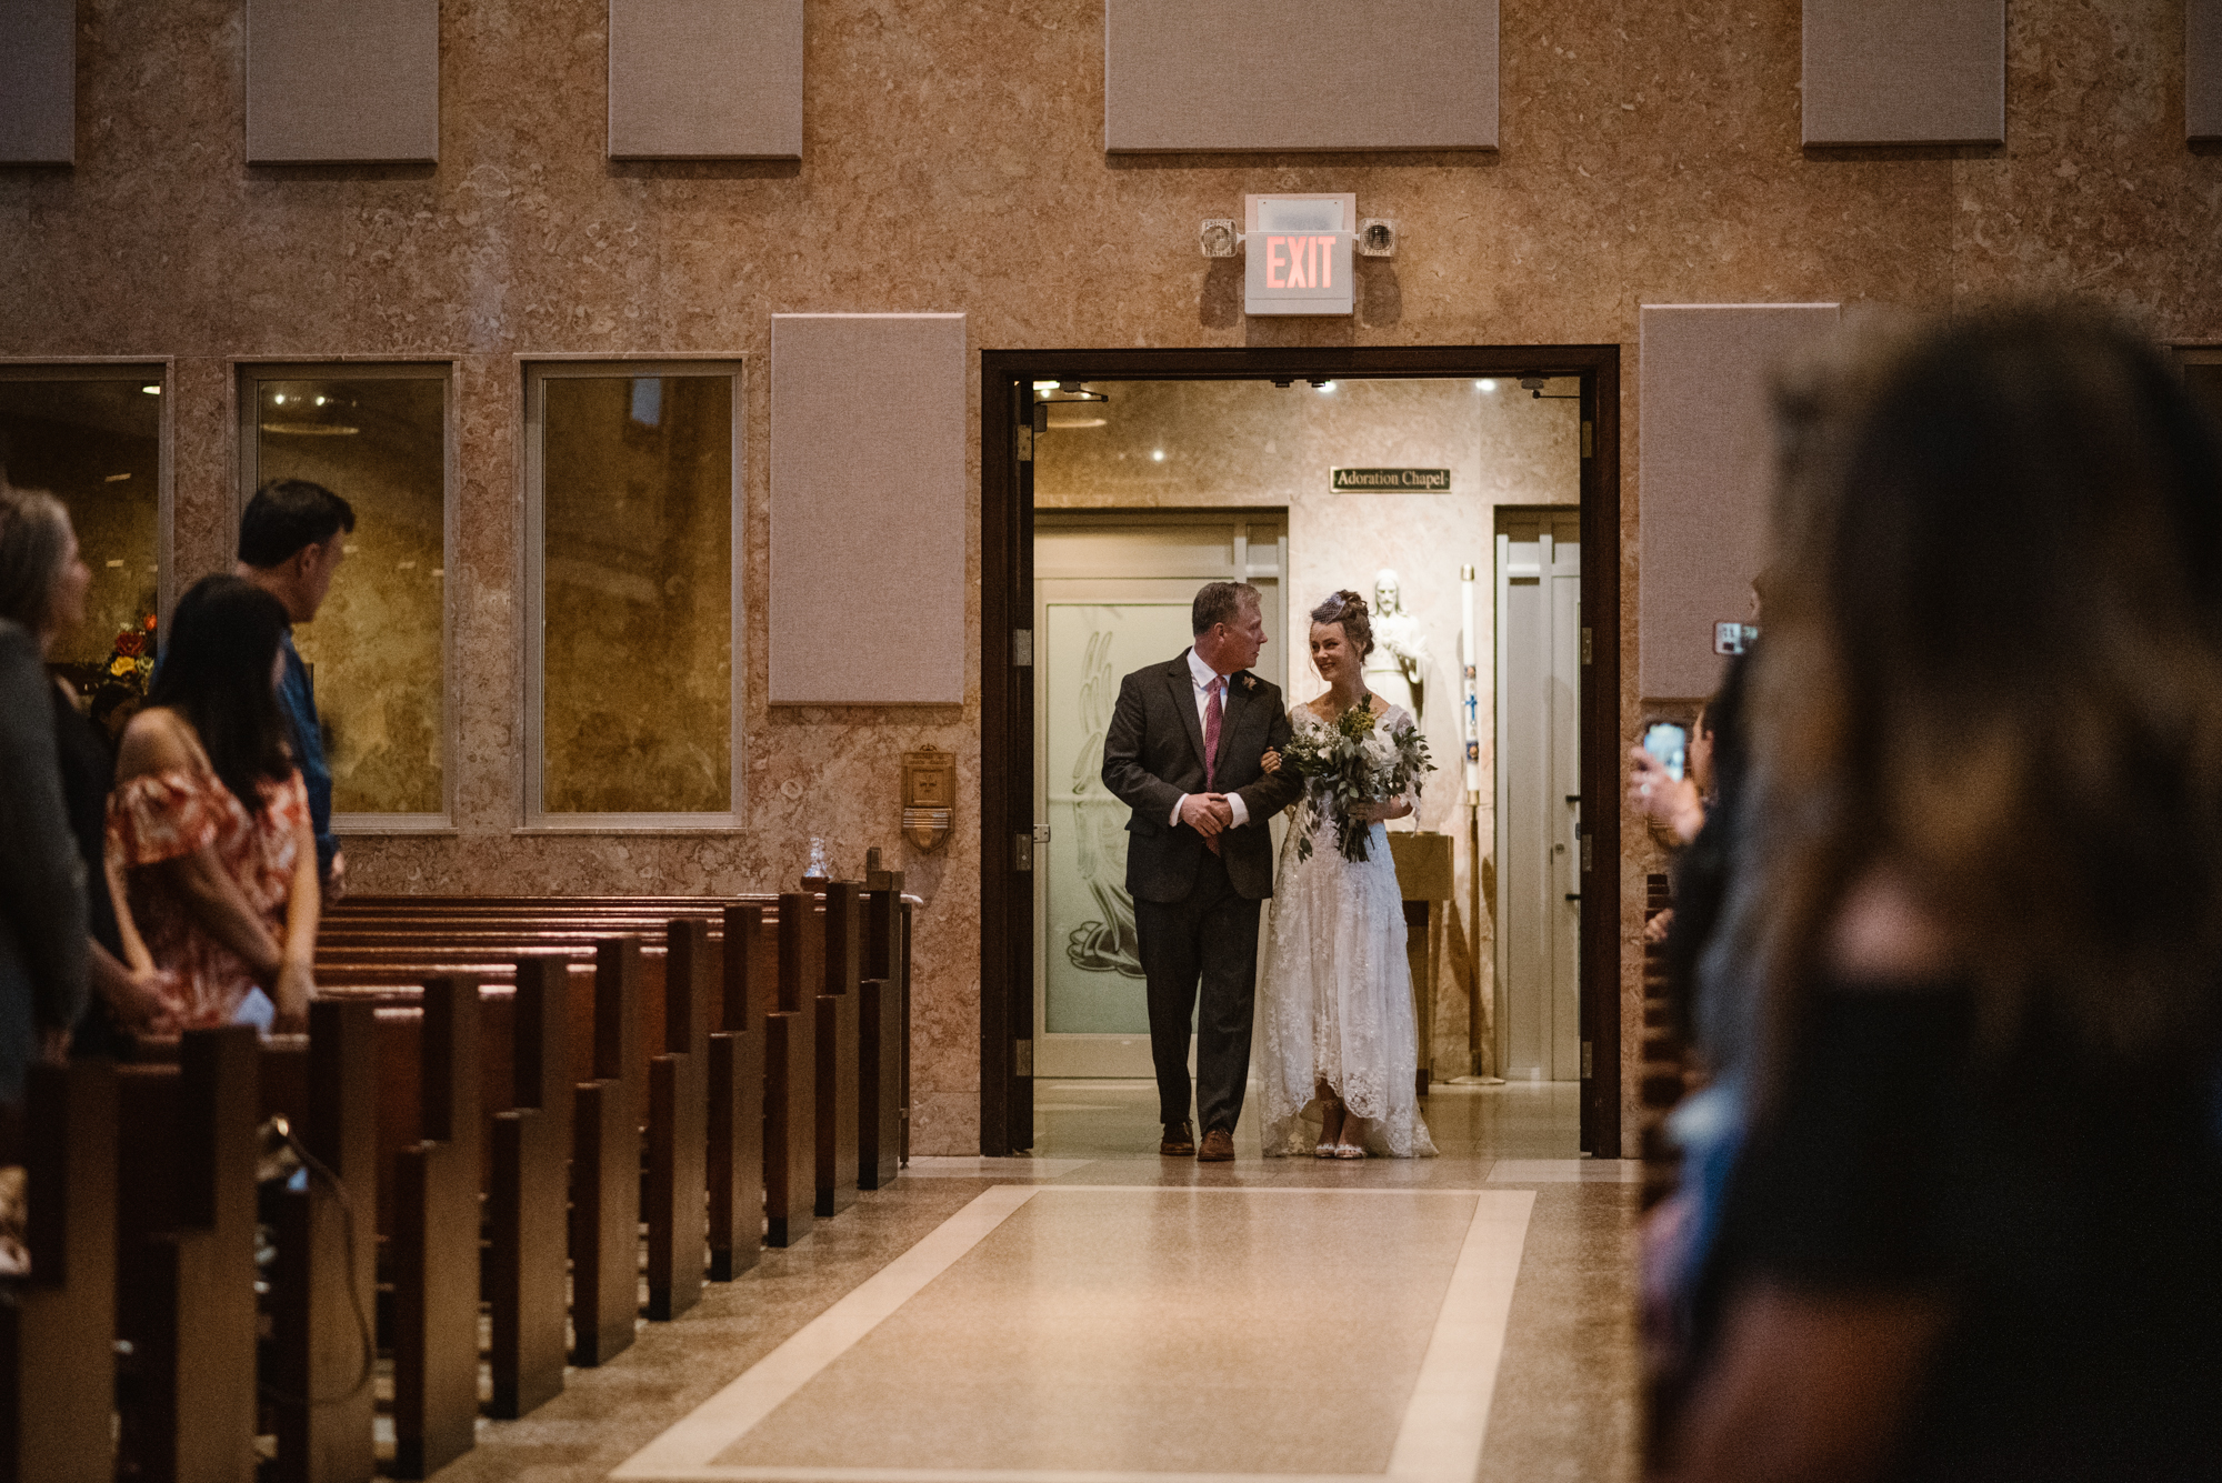
[[[2182,142],[2175,0],[2018,0],[2006,144],[1802,151],[1795,0],[1507,7],[1489,155],[1102,153],[1095,0],[822,0],[800,164],[604,158],[607,4],[442,7],[438,167],[244,164],[242,4],[89,0],[76,169],[0,171],[0,355],[176,355],[178,575],[229,557],[233,357],[456,366],[456,835],[362,839],[373,890],[760,888],[831,833],[895,841],[900,750],[960,755],[958,837],[893,848],[920,917],[922,1150],[978,1106],[978,699],[749,699],[747,826],[522,837],[520,357],[738,353],[773,311],[958,311],[973,346],[1622,344],[1642,302],[1895,302],[2075,291],[2155,335],[2222,337],[2222,158]],[[1402,226],[1349,320],[1240,313],[1195,222],[1244,191],[1355,191]],[[1633,353],[1622,380],[1622,673],[1635,673]],[[875,395],[858,391],[858,415]],[[749,426],[764,426],[762,377]],[[744,686],[762,695],[764,440],[744,468]],[[978,539],[967,557],[978,577]],[[975,659],[967,659],[975,664]],[[967,670],[973,675],[975,670]],[[973,682],[975,686],[975,682]],[[978,695],[969,686],[969,695]],[[1633,726],[1638,697],[1624,695]],[[1629,837],[1635,837],[1633,826]],[[1627,1070],[1642,848],[1622,859]],[[1624,1077],[1633,1097],[1635,1079]]]

